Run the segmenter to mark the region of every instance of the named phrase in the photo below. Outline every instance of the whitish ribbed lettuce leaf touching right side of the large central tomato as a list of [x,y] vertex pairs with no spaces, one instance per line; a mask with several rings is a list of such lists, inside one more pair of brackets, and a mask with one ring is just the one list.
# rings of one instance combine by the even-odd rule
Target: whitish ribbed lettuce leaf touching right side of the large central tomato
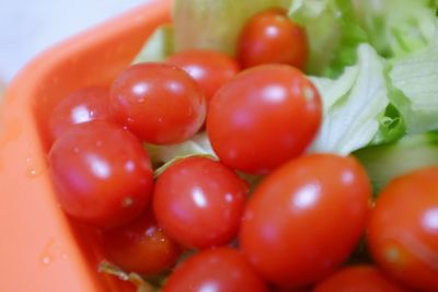
[[389,106],[385,67],[368,44],[357,48],[358,62],[336,80],[311,77],[324,106],[313,152],[348,154],[369,144],[378,135]]

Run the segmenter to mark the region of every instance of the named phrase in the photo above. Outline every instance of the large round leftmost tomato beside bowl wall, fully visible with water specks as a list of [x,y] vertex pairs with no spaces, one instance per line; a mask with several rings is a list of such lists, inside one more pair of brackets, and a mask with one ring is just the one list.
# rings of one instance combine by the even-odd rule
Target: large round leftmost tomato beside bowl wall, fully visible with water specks
[[72,218],[114,227],[149,202],[149,156],[120,126],[100,120],[72,126],[55,141],[48,161],[58,200]]

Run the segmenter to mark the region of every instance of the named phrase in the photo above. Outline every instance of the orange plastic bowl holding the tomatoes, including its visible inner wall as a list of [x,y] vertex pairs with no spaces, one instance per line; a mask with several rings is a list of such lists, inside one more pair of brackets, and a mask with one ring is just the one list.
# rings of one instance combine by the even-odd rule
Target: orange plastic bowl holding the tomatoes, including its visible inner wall
[[47,116],[72,90],[108,84],[153,30],[170,21],[171,0],[147,4],[49,49],[7,90],[0,114],[0,290],[129,291],[97,272],[95,230],[69,220],[47,174]]

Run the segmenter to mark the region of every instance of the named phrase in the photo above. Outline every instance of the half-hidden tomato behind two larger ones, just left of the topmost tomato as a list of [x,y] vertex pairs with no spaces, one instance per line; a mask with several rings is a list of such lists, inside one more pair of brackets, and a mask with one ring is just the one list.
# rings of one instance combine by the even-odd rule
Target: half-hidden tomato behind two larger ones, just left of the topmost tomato
[[240,71],[233,58],[215,50],[180,51],[172,55],[168,62],[181,67],[196,80],[207,101]]

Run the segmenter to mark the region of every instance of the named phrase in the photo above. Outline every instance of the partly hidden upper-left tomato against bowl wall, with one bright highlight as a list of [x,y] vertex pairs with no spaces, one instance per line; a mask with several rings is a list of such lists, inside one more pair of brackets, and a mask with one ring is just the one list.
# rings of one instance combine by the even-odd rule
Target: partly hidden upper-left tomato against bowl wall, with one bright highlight
[[108,96],[110,90],[100,86],[80,89],[67,95],[50,115],[48,126],[51,139],[56,140],[76,124],[90,120],[114,121]]

